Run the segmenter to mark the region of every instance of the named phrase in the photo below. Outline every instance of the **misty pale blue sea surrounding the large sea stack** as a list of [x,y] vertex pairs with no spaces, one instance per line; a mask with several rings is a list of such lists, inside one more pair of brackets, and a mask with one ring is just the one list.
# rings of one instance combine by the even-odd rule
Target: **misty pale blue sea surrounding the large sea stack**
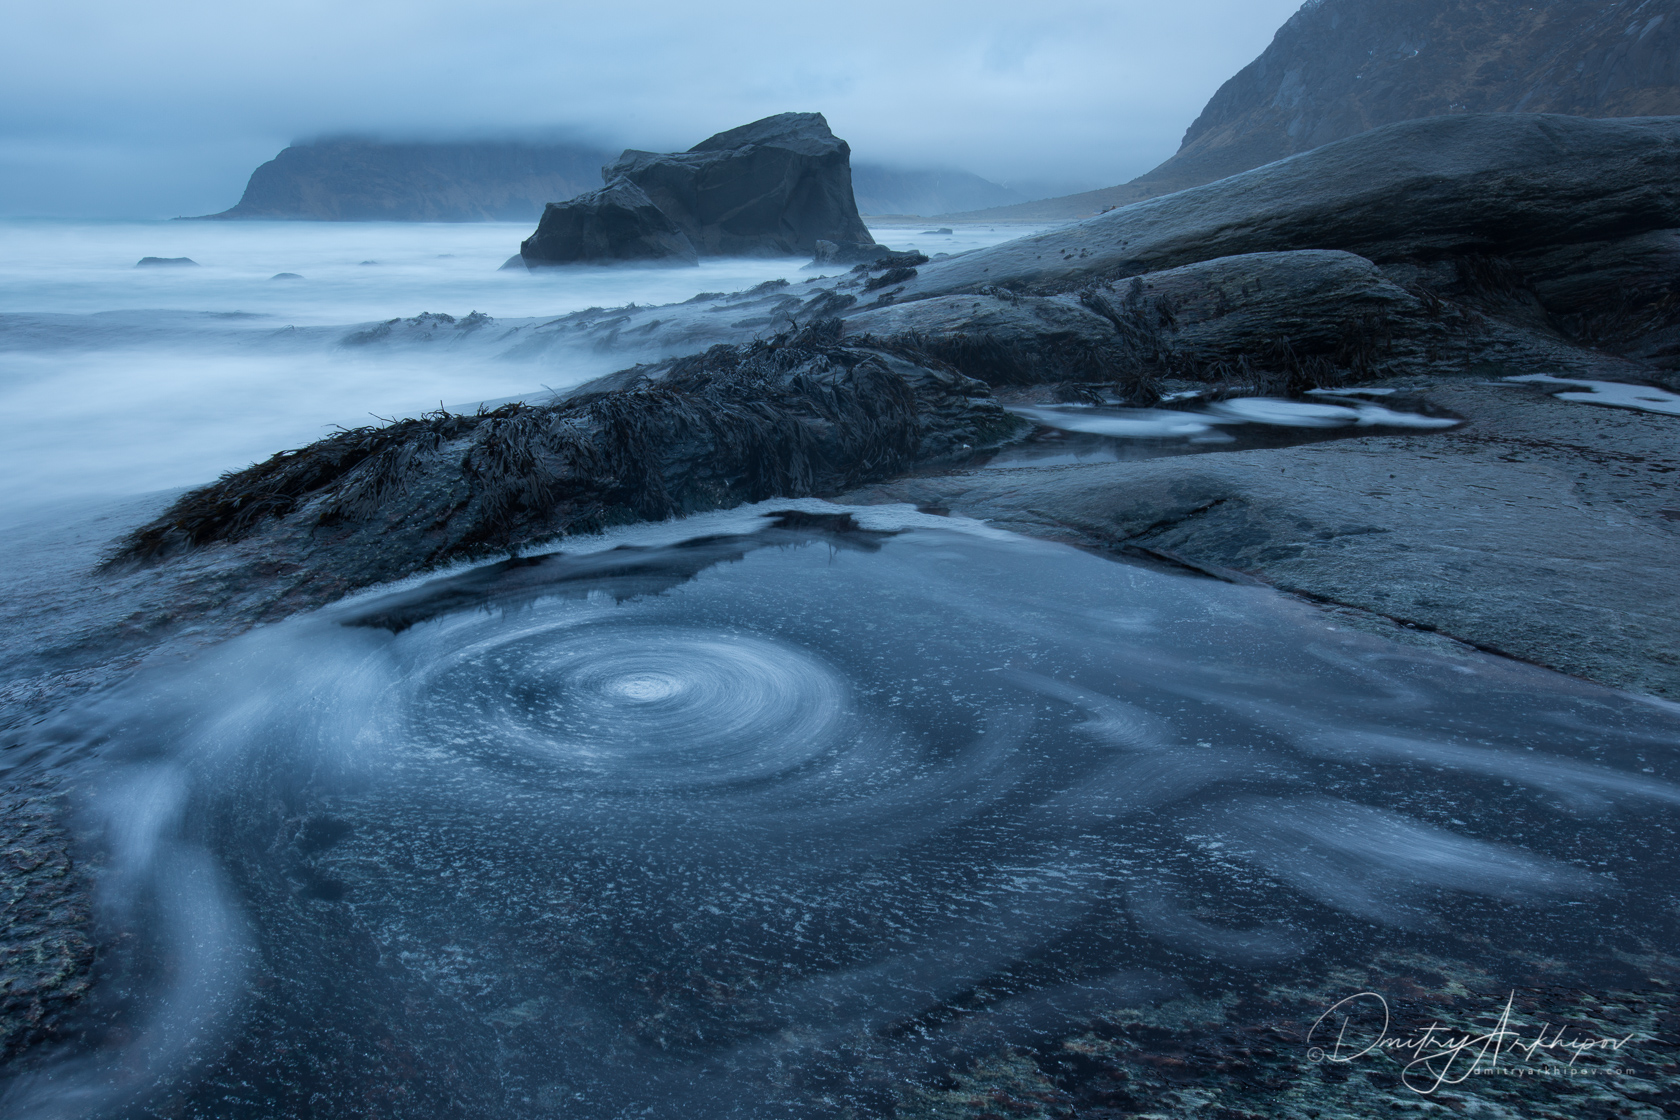
[[[877,230],[894,249],[964,252],[1018,227]],[[512,223],[0,220],[0,521],[67,502],[208,482],[334,427],[564,388],[633,358],[487,346],[346,346],[351,327],[423,312],[497,322],[657,306],[816,272],[800,260],[694,269],[501,272]],[[188,257],[197,267],[134,267]],[[301,279],[274,280],[292,272]]]

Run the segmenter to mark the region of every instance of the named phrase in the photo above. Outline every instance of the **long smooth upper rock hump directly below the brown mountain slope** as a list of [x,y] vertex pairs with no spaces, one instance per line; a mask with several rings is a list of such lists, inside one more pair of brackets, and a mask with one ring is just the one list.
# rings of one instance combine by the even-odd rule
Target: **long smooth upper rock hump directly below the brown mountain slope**
[[932,264],[906,297],[1294,249],[1376,262],[1544,254],[1663,228],[1680,228],[1680,119],[1443,116]]

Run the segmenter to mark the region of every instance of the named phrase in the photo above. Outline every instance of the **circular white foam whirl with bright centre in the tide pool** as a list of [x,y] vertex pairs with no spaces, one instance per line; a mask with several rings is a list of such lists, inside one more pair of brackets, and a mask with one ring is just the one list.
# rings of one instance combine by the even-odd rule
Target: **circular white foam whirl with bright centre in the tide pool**
[[763,636],[548,625],[432,667],[415,695],[430,742],[608,786],[717,786],[798,769],[850,725],[845,682]]

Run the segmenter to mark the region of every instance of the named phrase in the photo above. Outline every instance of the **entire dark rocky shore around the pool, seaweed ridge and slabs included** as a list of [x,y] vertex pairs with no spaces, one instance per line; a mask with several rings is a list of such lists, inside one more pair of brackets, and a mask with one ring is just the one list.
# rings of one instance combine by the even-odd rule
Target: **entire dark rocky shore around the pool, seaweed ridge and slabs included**
[[[1324,604],[1329,626],[1680,700],[1680,418],[1504,381],[1673,385],[1677,170],[1677,119],[1394,126],[993,250],[554,321],[571,341],[610,321],[605,344],[716,346],[546,400],[339,433],[163,510],[22,534],[0,615],[0,887],[18,915],[5,1044],[54,1038],[94,967],[87,878],[40,771],[54,710],[358,588],[638,519],[911,502],[1267,583]],[[1152,406],[1183,385],[1208,400],[1393,388],[1467,423],[971,462],[1028,428],[1000,396]]]

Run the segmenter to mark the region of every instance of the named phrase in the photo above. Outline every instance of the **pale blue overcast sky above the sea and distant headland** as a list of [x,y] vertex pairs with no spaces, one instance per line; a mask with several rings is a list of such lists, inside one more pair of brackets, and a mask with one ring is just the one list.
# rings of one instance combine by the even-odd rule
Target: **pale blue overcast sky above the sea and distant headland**
[[223,210],[294,139],[689,148],[820,111],[853,160],[1119,183],[1300,0],[0,0],[0,213]]

